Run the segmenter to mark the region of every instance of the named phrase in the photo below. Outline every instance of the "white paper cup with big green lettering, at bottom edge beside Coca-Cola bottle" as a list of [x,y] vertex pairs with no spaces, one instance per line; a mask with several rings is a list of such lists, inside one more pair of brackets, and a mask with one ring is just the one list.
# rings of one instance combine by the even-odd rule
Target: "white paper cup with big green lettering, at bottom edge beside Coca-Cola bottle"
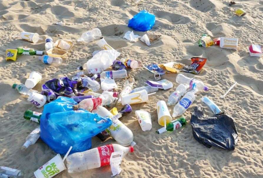
[[57,154],[54,158],[50,159],[46,164],[39,167],[34,172],[36,178],[51,178],[66,169],[66,166],[60,156]]

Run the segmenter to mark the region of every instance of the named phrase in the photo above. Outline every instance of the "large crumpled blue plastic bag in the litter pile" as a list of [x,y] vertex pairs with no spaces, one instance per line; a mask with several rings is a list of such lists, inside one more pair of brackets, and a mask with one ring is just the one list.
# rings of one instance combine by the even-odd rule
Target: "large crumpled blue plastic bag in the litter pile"
[[[91,138],[110,127],[110,118],[103,118],[84,109],[72,110],[73,99],[60,97],[44,105],[40,118],[40,137],[59,154],[83,152],[91,148]],[[103,122],[97,123],[100,120]]]

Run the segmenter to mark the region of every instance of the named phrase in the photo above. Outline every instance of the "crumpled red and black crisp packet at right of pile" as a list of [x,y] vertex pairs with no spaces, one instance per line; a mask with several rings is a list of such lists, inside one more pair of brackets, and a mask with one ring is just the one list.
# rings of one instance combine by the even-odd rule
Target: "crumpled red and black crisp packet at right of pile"
[[192,57],[192,64],[190,66],[183,66],[183,71],[193,74],[199,74],[203,66],[206,64],[206,58]]

